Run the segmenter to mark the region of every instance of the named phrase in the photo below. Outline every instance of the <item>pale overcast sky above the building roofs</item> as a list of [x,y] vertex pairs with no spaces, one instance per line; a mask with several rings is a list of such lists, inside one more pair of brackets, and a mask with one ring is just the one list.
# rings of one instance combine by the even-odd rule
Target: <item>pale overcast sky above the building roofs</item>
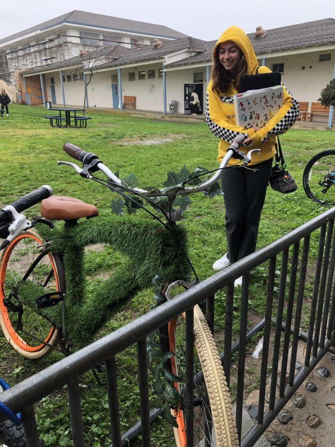
[[0,39],[74,9],[165,25],[216,40],[231,25],[246,33],[334,17],[334,0],[0,0]]

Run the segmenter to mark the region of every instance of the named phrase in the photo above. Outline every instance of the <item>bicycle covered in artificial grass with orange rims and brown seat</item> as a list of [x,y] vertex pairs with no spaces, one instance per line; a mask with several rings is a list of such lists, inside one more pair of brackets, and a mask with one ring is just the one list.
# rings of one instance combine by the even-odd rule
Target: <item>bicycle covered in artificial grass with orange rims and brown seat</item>
[[[221,169],[227,166],[231,156],[248,164],[253,150],[249,151],[247,156],[240,152],[238,148],[243,140],[244,136],[234,140],[216,174],[209,180],[195,187],[183,185],[178,190],[164,191],[164,194],[174,198],[179,194],[187,195],[205,190],[217,182]],[[120,179],[96,155],[70,144],[66,144],[64,150],[76,160],[82,161],[83,168],[65,161],[59,162],[60,165],[71,166],[82,177],[95,180],[113,191],[124,194],[122,191],[127,188],[122,186]],[[105,174],[107,181],[102,181],[93,175],[98,170]],[[44,189],[50,192],[50,187]],[[162,191],[148,193],[137,188],[132,188],[131,193],[138,194],[148,201],[151,200],[150,197],[162,195]],[[27,202],[26,198],[22,201]],[[138,201],[134,199],[132,201],[140,206]],[[34,203],[37,203],[36,198]],[[30,203],[23,209],[20,207],[20,211],[29,206]],[[41,357],[50,349],[55,349],[58,342],[65,354],[69,354],[72,347],[78,349],[86,345],[109,319],[115,301],[108,298],[117,286],[119,289],[122,288],[119,299],[125,298],[134,289],[149,285],[153,275],[158,273],[164,283],[162,296],[168,299],[174,287],[189,288],[198,281],[197,277],[193,283],[187,280],[191,264],[187,253],[181,249],[186,244],[185,234],[175,225],[178,213],[176,215],[171,209],[165,213],[168,224],[158,219],[164,228],[153,222],[143,223],[131,218],[120,221],[118,218],[109,217],[101,221],[95,219],[94,222],[90,219],[84,223],[77,223],[79,218],[96,217],[97,209],[73,198],[49,197],[42,201],[42,219],[34,220],[33,223],[39,222],[51,226],[52,220],[65,220],[65,225],[56,227],[52,234],[45,225],[40,228],[40,235],[27,229],[34,225],[30,221],[25,222],[24,216],[24,219],[21,219],[25,224],[20,228],[23,232],[13,230],[16,228],[15,222],[19,219],[13,209],[15,210],[15,206],[5,207],[0,211],[0,226],[7,225],[8,229],[8,220],[14,220],[9,226],[12,230],[6,238],[6,249],[0,260],[0,324],[8,342],[25,357]],[[136,256],[129,250],[129,237],[133,238],[134,244],[139,247]],[[103,287],[96,292],[95,300],[85,302],[81,266],[83,250],[85,246],[97,242],[109,243],[131,256],[133,278],[130,281],[128,271],[121,268],[107,280],[109,288],[103,283]],[[150,258],[151,268],[147,268],[148,251],[154,260],[151,265]],[[138,252],[142,254],[140,257]],[[13,263],[11,259],[14,260]],[[97,299],[99,299],[98,305]],[[96,318],[97,307],[101,311],[98,318]],[[197,426],[195,445],[200,445],[204,437],[207,444],[210,443],[208,445],[215,445],[213,432],[217,447],[238,446],[229,391],[213,336],[199,306],[195,307],[194,315],[196,365],[199,365],[195,371],[202,370],[204,376],[204,383],[199,381],[195,388],[195,402],[197,402],[194,417]],[[182,315],[170,322],[167,328],[169,350],[174,353],[171,370],[175,376],[182,376],[185,369],[183,333]],[[165,348],[164,350],[166,351]],[[183,385],[175,382],[174,386],[181,394],[183,393]],[[186,407],[182,404],[173,411],[178,421],[176,444],[185,446]]]

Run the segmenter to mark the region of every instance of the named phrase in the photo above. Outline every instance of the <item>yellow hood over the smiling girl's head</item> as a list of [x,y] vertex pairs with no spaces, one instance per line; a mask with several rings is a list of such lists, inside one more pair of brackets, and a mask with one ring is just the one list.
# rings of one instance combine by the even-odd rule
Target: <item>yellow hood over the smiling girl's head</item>
[[247,60],[248,74],[255,74],[258,67],[255,51],[251,45],[249,37],[238,26],[231,26],[230,28],[226,29],[223,34],[221,34],[213,49],[213,59],[215,58],[217,47],[221,43],[227,42],[227,40],[233,41],[244,54]]

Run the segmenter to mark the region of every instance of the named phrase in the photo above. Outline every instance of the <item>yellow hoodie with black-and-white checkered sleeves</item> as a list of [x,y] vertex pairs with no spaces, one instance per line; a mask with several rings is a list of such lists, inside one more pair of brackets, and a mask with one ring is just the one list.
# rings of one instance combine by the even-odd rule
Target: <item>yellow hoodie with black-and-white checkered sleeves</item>
[[[243,52],[247,61],[248,74],[256,74],[257,69],[260,74],[271,72],[268,67],[258,67],[256,54],[248,36],[237,26],[231,26],[221,35],[213,49],[213,58],[215,57],[218,45],[228,40],[233,41]],[[299,115],[299,104],[287,88],[283,84],[282,86],[282,107],[267,122],[266,126],[255,132],[254,129],[244,129],[236,125],[233,101],[233,95],[237,93],[236,88],[231,86],[228,90],[217,95],[212,91],[212,81],[208,83],[206,93],[206,123],[210,131],[220,139],[218,161],[222,160],[230,143],[241,133],[246,137],[252,138],[254,147],[262,149],[259,154],[253,154],[251,164],[261,163],[272,158],[275,153],[275,136],[286,132],[295,123]],[[248,151],[246,147],[240,150],[244,152]],[[236,160],[232,159],[229,164],[234,163],[236,163]]]

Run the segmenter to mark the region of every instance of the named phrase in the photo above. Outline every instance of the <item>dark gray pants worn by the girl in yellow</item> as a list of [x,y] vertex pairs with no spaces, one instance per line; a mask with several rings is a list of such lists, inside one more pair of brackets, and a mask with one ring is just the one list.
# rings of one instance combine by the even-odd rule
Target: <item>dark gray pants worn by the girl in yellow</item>
[[272,158],[253,165],[253,169],[258,169],[256,172],[243,167],[228,167],[222,172],[228,258],[231,263],[256,249],[271,167]]

